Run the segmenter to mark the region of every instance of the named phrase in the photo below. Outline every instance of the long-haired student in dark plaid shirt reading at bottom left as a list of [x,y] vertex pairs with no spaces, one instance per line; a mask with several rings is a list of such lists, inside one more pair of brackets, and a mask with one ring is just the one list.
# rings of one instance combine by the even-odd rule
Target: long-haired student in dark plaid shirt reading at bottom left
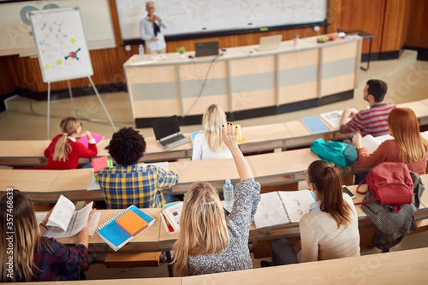
[[[14,190],[7,192],[0,199],[0,232],[5,234],[11,232],[9,223],[10,209],[9,201],[13,204],[13,234],[6,234],[0,239],[0,281],[24,282],[24,281],[59,281],[78,280],[79,264],[88,255],[88,224],[77,237],[76,246],[68,248],[55,239],[42,237],[46,232],[46,223],[49,214],[44,220],[37,224],[31,199],[20,192]],[[95,209],[89,215],[91,219]],[[10,213],[9,213],[10,214]],[[7,216],[7,217],[6,217]],[[11,240],[6,237],[12,237]],[[13,268],[7,262],[12,255],[6,251],[9,244],[13,244],[10,254],[13,254]]]

